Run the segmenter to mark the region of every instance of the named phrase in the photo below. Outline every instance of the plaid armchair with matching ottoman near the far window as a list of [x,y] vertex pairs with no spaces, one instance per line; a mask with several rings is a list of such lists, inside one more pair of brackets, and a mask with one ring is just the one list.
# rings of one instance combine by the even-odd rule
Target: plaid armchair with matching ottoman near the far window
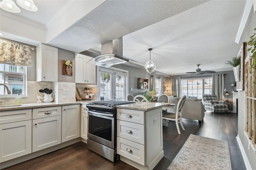
[[218,101],[217,97],[215,95],[203,95],[203,103],[204,103],[204,109],[206,111],[213,111],[215,112],[227,112],[228,106],[225,104],[224,101]]

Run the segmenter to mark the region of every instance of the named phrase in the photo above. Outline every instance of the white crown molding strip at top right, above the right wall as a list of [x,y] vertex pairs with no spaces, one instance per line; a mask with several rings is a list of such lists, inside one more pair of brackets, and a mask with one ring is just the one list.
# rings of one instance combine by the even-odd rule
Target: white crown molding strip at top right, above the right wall
[[236,35],[236,40],[235,40],[235,42],[237,44],[239,43],[240,38],[242,36],[242,33],[244,31],[244,26],[247,22],[250,11],[252,9],[252,4],[253,4],[252,0],[246,0],[246,2],[245,2],[244,13],[243,13],[243,16],[242,16],[242,19],[241,19],[241,22],[240,22],[240,25],[239,25],[239,28],[238,28],[238,32],[237,32],[237,35]]

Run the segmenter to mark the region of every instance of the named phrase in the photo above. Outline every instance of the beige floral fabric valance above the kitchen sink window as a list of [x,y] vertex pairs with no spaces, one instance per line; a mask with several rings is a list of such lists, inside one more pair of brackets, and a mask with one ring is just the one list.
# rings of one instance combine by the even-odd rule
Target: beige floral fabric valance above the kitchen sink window
[[31,66],[30,47],[0,40],[0,63]]

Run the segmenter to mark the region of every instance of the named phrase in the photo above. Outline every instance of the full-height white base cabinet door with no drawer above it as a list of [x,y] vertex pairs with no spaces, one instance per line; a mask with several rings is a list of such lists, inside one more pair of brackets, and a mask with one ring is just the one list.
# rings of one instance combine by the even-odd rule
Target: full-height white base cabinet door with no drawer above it
[[62,106],[62,142],[80,137],[80,105]]

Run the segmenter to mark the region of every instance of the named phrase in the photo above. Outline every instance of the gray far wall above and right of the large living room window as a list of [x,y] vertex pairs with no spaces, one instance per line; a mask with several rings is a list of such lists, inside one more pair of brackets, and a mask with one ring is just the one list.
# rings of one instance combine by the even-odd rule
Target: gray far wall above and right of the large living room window
[[[232,91],[234,90],[234,87],[231,86],[232,83],[234,83],[235,81],[235,76],[234,76],[234,72],[232,71],[218,71],[214,74],[224,74],[224,89],[226,89],[226,91],[228,91],[228,93],[230,95],[228,95],[228,100],[232,101]],[[203,75],[196,75],[196,74],[190,74],[190,75],[175,75],[172,76],[172,78],[174,77],[181,77],[181,78],[198,78],[198,77],[206,77],[206,76],[212,76],[213,74],[203,74]],[[226,96],[225,100],[227,99]]]

